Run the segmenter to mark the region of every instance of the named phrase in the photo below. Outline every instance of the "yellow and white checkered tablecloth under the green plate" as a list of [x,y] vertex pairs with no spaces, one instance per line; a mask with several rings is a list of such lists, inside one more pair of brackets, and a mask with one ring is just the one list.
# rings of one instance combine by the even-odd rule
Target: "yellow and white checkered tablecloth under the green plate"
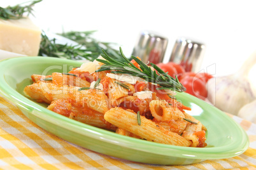
[[0,96],[0,169],[256,169],[256,124],[230,116],[249,136],[245,153],[187,166],[155,166],[73,145],[39,128]]

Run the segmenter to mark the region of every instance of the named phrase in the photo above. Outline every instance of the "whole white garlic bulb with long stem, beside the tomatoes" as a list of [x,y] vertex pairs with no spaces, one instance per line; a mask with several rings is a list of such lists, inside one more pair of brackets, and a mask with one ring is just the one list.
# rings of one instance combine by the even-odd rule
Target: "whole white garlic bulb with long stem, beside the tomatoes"
[[215,77],[208,81],[208,100],[224,112],[238,115],[241,107],[255,100],[248,74],[256,63],[256,51],[236,74]]

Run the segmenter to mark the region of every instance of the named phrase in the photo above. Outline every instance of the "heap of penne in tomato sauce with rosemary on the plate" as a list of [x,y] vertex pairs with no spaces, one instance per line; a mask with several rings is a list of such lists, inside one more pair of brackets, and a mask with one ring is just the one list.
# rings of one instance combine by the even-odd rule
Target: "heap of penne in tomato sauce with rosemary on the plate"
[[[206,147],[207,129],[175,98],[179,89],[146,79],[139,70],[164,80],[175,79],[155,65],[142,64],[138,57],[110,67],[111,62],[105,54],[67,73],[33,74],[33,83],[24,88],[24,93],[39,103],[48,103],[47,108],[57,114],[97,128],[167,145]],[[125,74],[121,66],[136,70],[138,76],[126,70]],[[181,84],[177,82],[176,86]]]

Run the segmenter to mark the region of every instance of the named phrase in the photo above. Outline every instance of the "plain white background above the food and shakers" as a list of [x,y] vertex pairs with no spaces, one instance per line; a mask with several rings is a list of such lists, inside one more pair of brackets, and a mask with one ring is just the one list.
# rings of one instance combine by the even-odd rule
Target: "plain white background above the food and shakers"
[[[1,1],[0,6],[22,2],[27,1]],[[31,18],[52,33],[97,30],[94,37],[117,43],[126,56],[142,30],[159,32],[168,39],[164,62],[178,37],[190,37],[206,44],[201,69],[220,76],[236,72],[256,50],[255,4],[246,0],[43,0],[34,6]]]

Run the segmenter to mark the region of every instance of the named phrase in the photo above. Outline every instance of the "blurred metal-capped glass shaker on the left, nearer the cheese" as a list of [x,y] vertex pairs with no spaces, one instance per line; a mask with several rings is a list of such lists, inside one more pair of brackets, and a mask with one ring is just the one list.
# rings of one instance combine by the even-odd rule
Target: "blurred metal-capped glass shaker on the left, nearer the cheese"
[[139,35],[132,51],[133,56],[139,56],[144,63],[160,63],[166,53],[168,39],[157,33],[143,31]]

